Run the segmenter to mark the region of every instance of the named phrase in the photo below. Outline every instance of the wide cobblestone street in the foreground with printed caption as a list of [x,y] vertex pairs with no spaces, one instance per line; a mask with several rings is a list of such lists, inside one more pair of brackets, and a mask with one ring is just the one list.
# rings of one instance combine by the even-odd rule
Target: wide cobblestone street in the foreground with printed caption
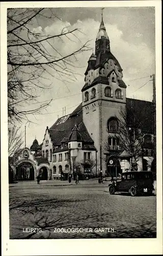
[[[10,239],[156,237],[155,195],[110,195],[108,182],[98,184],[97,180],[77,185],[67,181],[19,182],[10,184],[9,190]],[[27,232],[29,228],[42,231]],[[64,232],[54,232],[57,228]],[[85,229],[67,232],[68,228]]]

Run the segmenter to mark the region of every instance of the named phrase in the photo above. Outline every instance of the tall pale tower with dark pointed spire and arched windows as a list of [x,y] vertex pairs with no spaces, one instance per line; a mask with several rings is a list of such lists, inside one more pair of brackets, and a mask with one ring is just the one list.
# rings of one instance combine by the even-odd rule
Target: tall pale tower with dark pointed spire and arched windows
[[105,144],[110,144],[113,154],[118,148],[115,133],[118,132],[120,109],[126,105],[126,85],[122,77],[120,63],[111,53],[102,16],[95,54],[90,56],[85,72],[82,108],[83,121],[98,151],[97,168],[104,173],[107,169]]

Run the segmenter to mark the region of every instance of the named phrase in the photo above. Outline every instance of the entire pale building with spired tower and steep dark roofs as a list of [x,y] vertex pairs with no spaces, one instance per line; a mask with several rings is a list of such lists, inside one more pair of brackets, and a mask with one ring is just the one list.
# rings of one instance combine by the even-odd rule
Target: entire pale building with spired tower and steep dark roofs
[[[111,53],[110,40],[101,20],[95,42],[95,54],[88,60],[82,102],[69,115],[59,118],[46,128],[43,143],[35,139],[31,146],[37,162],[35,177],[46,162],[46,179],[63,177],[68,173],[116,176],[129,167],[130,156],[122,152],[115,137],[121,108],[126,107],[128,118],[132,107],[141,117],[141,133],[144,136],[144,151],[138,161],[138,170],[151,168],[153,160],[153,114],[152,102],[126,98],[126,84],[122,68]],[[132,127],[132,120],[129,120]],[[105,143],[108,148],[106,150]],[[30,152],[29,152],[30,154]],[[40,159],[40,160],[39,160]],[[44,163],[45,166],[45,163]]]

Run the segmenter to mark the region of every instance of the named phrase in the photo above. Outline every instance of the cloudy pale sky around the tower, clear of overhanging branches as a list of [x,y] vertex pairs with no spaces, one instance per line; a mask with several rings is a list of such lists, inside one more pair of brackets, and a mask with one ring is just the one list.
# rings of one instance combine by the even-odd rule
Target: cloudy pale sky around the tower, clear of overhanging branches
[[[55,20],[39,19],[33,28],[41,33],[57,34],[64,27],[78,28],[77,36],[82,42],[90,40],[90,47],[95,49],[95,40],[101,22],[100,8],[55,8]],[[49,9],[46,9],[49,12]],[[111,52],[118,59],[123,69],[123,80],[126,83],[126,96],[152,101],[152,81],[150,75],[155,73],[155,10],[154,7],[111,7],[104,8],[103,20]],[[58,51],[71,52],[76,49],[77,40],[56,41]],[[42,92],[39,101],[52,99],[50,106],[42,111],[42,115],[31,116],[34,123],[26,124],[26,146],[30,147],[33,140],[42,143],[46,126],[56,122],[58,116],[71,113],[82,102],[82,88],[85,84],[84,73],[92,50],[84,52],[74,59],[78,68],[72,82],[63,82],[49,75],[51,87]],[[34,104],[35,108],[36,104]],[[25,122],[22,123],[24,131]],[[24,137],[23,137],[24,139]]]

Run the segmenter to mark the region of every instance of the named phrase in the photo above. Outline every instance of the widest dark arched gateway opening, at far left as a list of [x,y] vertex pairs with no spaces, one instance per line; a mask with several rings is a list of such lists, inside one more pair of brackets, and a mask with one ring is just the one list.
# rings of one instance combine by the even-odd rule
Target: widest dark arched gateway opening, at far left
[[35,170],[30,162],[20,163],[16,167],[17,180],[35,180]]

